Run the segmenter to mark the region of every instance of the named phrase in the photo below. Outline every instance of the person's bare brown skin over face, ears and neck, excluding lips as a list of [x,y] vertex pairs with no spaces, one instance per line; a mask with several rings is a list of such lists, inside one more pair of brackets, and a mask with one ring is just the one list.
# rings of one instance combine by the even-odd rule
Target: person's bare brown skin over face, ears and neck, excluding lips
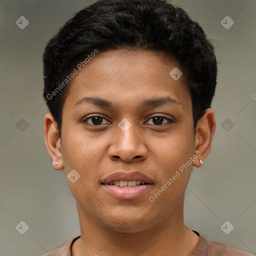
[[[183,222],[184,192],[192,165],[200,167],[199,159],[203,161],[210,151],[215,119],[213,110],[206,109],[194,133],[191,98],[184,77],[176,81],[170,77],[174,67],[182,70],[159,52],[99,52],[70,82],[61,139],[54,118],[45,115],[44,140],[53,168],[80,174],[74,183],[67,179],[81,229],[72,255],[185,256],[196,246],[198,236]],[[109,100],[112,107],[76,104],[85,96]],[[141,107],[144,99],[165,96],[179,103]],[[93,125],[87,119],[91,114],[102,116],[101,123]],[[172,122],[163,118],[157,125],[153,115]],[[125,132],[118,126],[123,118],[131,124]],[[149,196],[198,151],[200,156],[150,202]],[[110,196],[102,179],[120,170],[146,174],[153,181],[151,189],[133,200]]]

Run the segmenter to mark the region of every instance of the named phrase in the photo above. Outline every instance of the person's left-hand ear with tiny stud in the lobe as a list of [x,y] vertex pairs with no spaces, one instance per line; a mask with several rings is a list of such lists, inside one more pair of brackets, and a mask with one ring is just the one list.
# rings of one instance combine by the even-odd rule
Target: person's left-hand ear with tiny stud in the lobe
[[44,142],[52,159],[52,167],[55,170],[64,168],[61,141],[58,136],[57,123],[51,113],[44,116],[43,128]]

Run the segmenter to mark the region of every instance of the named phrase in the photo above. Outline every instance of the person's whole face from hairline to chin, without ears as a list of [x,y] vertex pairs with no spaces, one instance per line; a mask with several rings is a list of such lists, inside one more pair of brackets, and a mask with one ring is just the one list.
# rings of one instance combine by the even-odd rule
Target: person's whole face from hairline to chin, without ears
[[169,75],[174,67],[182,70],[161,53],[118,49],[99,52],[72,78],[61,161],[80,175],[67,179],[80,215],[129,232],[182,215],[198,158],[190,95],[183,76]]

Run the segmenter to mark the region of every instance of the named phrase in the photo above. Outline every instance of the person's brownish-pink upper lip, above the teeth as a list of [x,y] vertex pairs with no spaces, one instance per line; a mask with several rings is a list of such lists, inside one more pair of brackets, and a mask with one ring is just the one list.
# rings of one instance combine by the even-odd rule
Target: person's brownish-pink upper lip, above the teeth
[[130,171],[130,172],[117,171],[105,177],[102,183],[107,184],[116,180],[127,180],[127,181],[140,180],[140,181],[144,181],[145,183],[153,183],[153,181],[149,177],[147,177],[145,174],[138,171]]

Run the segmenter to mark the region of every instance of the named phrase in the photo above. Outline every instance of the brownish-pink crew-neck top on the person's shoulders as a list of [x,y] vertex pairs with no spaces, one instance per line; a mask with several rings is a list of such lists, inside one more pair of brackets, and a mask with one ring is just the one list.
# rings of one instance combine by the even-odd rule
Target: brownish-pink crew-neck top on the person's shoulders
[[[251,254],[238,250],[224,243],[214,242],[206,239],[197,231],[194,232],[199,236],[199,240],[190,256],[251,256]],[[80,235],[72,238],[63,247],[49,251],[42,256],[72,256],[71,246],[79,237]]]

